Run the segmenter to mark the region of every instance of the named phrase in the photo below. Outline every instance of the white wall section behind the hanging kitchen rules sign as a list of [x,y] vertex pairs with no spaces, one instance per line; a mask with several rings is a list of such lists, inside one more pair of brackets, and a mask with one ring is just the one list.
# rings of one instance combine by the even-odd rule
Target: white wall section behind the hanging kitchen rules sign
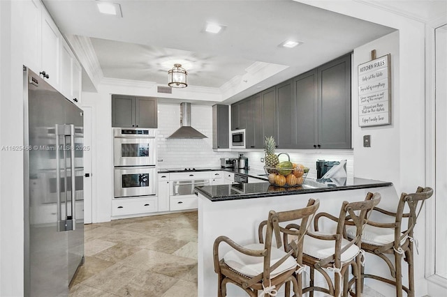
[[[363,127],[358,125],[358,65],[371,60],[371,51],[376,56],[391,55],[391,125]],[[400,73],[399,73],[399,31],[393,32],[362,45],[354,50],[352,80],[352,135],[355,175],[392,181],[400,188],[400,158],[397,148],[400,146]],[[363,135],[371,135],[371,147],[363,147]],[[379,162],[378,162],[379,161]],[[415,188],[416,189],[416,188]],[[413,190],[415,190],[413,189]]]

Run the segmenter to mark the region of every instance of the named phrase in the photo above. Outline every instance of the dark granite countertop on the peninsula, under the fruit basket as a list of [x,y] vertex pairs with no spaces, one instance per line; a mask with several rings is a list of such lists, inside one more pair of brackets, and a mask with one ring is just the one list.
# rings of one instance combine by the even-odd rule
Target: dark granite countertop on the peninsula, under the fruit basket
[[[338,185],[337,185],[338,184]],[[342,185],[340,185],[342,184]],[[307,193],[357,190],[367,188],[389,187],[390,182],[374,181],[365,178],[353,178],[352,182],[335,183],[325,179],[307,178],[303,185],[292,188],[281,188],[270,183],[235,183],[233,185],[206,185],[196,187],[196,191],[211,201],[235,199],[251,199],[270,196],[299,195]]]

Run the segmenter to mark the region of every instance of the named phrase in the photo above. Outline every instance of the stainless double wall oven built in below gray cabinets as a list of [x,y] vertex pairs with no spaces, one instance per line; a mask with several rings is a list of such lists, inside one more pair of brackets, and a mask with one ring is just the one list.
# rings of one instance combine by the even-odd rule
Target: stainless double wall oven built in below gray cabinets
[[114,128],[114,197],[156,195],[155,129]]

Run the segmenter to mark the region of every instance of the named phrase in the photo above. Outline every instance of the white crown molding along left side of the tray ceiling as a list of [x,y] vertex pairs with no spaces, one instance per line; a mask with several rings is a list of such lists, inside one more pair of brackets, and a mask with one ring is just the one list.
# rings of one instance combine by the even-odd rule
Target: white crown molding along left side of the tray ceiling
[[91,83],[98,89],[98,84],[101,83],[104,75],[90,38],[78,35],[66,35],[65,37],[75,55],[78,56],[78,60],[89,76]]

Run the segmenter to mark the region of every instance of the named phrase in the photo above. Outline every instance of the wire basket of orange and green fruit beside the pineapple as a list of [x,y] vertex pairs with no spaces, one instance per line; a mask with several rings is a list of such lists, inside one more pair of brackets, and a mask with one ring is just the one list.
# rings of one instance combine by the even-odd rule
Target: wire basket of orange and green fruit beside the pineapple
[[[305,180],[309,168],[290,162],[290,156],[287,153],[280,153],[288,156],[288,161],[281,162],[277,167],[264,166],[265,173],[268,174],[268,181],[271,185],[277,187],[289,188],[302,185]],[[284,167],[284,165],[288,165]],[[290,167],[291,165],[291,167]]]

